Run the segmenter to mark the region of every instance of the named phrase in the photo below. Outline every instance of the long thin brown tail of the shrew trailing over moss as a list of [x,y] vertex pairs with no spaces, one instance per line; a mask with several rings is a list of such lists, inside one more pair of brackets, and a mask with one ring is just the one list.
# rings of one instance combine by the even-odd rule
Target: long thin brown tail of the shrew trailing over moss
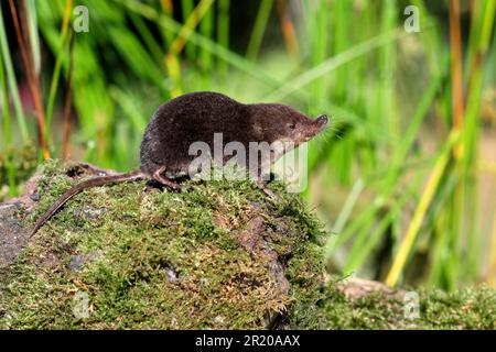
[[132,182],[145,178],[145,175],[140,170],[132,170],[126,174],[110,175],[110,176],[101,176],[94,177],[87,180],[84,180],[76,186],[69,188],[66,193],[64,193],[53,205],[46,210],[46,212],[37,219],[34,224],[33,230],[30,233],[30,238],[36,233],[37,230],[46,222],[50,218],[69,200],[72,197],[80,193],[82,190],[90,187],[103,186],[107,184],[122,183],[122,182]]

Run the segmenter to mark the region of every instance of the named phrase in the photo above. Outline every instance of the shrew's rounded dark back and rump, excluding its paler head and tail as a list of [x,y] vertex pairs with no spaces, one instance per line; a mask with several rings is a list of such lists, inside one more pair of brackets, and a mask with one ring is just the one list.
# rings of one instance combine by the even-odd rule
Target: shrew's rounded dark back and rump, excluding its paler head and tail
[[205,142],[213,147],[214,133],[223,142],[248,143],[247,106],[220,94],[193,92],[162,105],[153,114],[141,143],[141,169],[153,174],[165,166],[168,174],[181,175],[195,157],[190,145]]

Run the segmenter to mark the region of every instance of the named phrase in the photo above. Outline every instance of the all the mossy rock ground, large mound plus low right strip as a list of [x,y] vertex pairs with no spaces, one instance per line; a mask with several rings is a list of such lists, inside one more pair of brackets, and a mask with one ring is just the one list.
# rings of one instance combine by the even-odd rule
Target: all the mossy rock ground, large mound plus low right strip
[[48,162],[0,205],[0,329],[496,328],[487,287],[416,289],[411,301],[380,283],[324,279],[325,233],[277,183],[277,201],[249,182],[91,188],[28,239],[89,176]]

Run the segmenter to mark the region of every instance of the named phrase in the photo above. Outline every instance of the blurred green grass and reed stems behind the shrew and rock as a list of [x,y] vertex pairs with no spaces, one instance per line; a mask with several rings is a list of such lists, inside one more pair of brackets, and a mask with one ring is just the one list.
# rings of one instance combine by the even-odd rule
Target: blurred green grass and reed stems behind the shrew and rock
[[161,103],[215,90],[332,117],[302,195],[331,273],[496,286],[495,16],[495,0],[4,0],[0,199],[47,157],[137,167]]

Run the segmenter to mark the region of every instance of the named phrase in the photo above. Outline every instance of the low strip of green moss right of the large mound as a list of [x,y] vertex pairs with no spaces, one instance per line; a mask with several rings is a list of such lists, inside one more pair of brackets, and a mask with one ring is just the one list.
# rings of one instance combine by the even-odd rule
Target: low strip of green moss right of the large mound
[[405,298],[379,293],[348,298],[332,282],[322,290],[314,309],[299,311],[293,322],[301,329],[496,328],[496,292],[492,288],[481,286],[452,294],[420,288],[416,293],[418,316],[409,316],[405,312],[409,304]]

